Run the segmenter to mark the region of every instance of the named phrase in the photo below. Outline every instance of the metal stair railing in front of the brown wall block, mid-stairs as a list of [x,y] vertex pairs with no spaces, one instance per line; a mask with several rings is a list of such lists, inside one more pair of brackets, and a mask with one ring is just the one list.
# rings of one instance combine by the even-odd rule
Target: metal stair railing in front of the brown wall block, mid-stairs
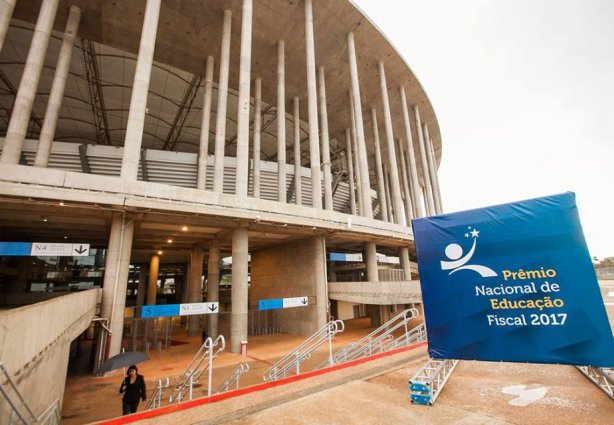
[[316,333],[311,335],[305,342],[296,347],[290,353],[279,359],[273,366],[264,372],[265,381],[274,381],[288,376],[301,373],[301,363],[311,357],[311,353],[328,341],[329,358],[332,357],[332,339],[339,332],[343,332],[345,325],[341,320],[330,321],[322,326]]

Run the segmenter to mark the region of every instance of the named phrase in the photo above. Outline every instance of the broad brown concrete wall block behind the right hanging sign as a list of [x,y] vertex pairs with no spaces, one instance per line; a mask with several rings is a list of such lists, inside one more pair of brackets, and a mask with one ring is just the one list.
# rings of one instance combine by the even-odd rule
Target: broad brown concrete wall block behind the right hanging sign
[[307,296],[308,307],[277,310],[276,315],[282,332],[313,334],[326,321],[328,300],[316,297],[318,279],[325,283],[323,251],[320,239],[314,237],[252,252],[250,309],[258,308],[261,299]]

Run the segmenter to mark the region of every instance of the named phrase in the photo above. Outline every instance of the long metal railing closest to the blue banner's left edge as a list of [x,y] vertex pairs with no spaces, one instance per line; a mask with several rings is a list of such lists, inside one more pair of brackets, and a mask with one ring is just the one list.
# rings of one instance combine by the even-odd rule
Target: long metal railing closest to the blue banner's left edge
[[[395,344],[399,344],[399,347],[403,346],[400,344],[408,345],[410,340],[414,340],[413,337],[410,337],[410,332],[414,332],[415,328],[409,331],[407,324],[410,320],[418,317],[418,315],[418,310],[415,308],[409,308],[402,311],[361,340],[342,347],[329,359],[320,363],[316,369],[322,369],[334,364],[345,363],[350,360],[388,351],[392,349],[391,347]],[[395,339],[394,332],[400,330],[403,330],[403,334]],[[419,331],[414,333],[419,333]]]

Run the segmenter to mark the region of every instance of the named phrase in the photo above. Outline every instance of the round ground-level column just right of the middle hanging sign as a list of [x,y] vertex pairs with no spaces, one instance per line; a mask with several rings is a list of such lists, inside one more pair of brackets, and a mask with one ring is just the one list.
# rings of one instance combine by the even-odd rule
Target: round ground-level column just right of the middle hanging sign
[[247,228],[232,232],[232,312],[230,315],[230,351],[238,354],[241,341],[247,341]]

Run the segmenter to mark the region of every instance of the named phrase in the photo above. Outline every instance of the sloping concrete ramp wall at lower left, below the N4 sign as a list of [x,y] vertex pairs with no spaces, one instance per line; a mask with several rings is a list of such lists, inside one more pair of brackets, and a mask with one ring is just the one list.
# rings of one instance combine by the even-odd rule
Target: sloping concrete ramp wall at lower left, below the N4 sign
[[35,415],[61,403],[70,343],[89,326],[99,298],[91,289],[0,312],[0,362]]

